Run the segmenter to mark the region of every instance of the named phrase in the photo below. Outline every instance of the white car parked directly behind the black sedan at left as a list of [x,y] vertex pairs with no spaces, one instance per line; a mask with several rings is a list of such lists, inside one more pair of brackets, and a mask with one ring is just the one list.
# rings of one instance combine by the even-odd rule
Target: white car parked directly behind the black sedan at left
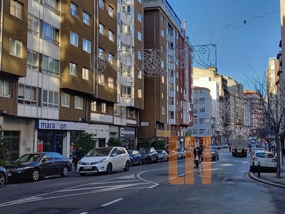
[[112,173],[113,170],[130,169],[130,155],[123,147],[93,148],[78,161],[76,172],[80,175],[86,173]]

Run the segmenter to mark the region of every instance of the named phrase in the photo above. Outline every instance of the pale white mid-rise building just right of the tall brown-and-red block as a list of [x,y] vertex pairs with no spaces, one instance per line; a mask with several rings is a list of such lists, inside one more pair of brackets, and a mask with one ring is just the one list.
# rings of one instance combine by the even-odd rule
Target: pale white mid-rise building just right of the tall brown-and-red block
[[215,118],[212,116],[214,113],[212,102],[209,88],[193,86],[193,126],[188,129],[195,137],[196,143],[203,141],[205,137],[212,138],[212,142],[214,142]]

